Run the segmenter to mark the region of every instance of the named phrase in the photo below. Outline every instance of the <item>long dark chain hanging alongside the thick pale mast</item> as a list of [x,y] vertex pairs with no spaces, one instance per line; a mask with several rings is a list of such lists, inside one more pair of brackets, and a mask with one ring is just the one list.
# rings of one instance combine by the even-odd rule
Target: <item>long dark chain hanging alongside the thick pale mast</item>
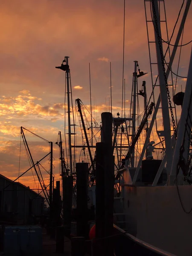
[[161,55],[161,63],[163,66],[164,78],[165,78],[165,82],[166,82],[167,98],[168,98],[169,108],[170,108],[171,117],[172,117],[173,131],[175,133],[175,138],[177,139],[177,131],[176,131],[175,119],[174,119],[174,115],[173,115],[171,96],[169,93],[169,86],[168,86],[168,82],[167,82],[166,69],[165,69],[165,64],[164,64],[164,56],[163,56],[163,50],[162,50],[162,41],[161,41],[161,37],[159,35],[159,28],[158,28],[158,24],[157,24],[157,15],[156,15],[156,11],[155,11],[154,0],[151,0],[151,2],[152,2],[153,12],[154,12],[154,21],[155,21],[155,26],[156,26],[155,30],[157,32],[157,37],[158,37],[158,43],[159,43],[159,49],[160,49],[160,55]]

